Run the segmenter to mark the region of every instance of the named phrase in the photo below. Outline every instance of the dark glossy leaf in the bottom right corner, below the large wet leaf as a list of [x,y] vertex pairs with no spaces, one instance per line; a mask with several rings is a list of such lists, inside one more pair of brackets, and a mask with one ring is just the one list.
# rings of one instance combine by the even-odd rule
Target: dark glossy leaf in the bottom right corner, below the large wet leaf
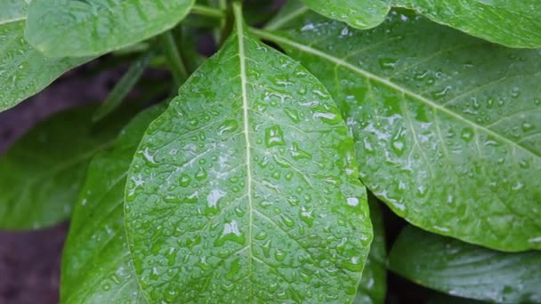
[[496,252],[410,226],[393,245],[389,267],[417,284],[464,298],[541,301],[541,252]]

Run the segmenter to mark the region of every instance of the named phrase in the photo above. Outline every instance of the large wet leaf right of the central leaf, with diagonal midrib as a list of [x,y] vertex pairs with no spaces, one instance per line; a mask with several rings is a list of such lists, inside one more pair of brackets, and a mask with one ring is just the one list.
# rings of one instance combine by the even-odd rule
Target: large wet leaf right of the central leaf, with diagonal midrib
[[410,12],[365,31],[317,16],[306,24],[257,33],[326,84],[367,188],[432,232],[503,251],[541,248],[541,52]]

